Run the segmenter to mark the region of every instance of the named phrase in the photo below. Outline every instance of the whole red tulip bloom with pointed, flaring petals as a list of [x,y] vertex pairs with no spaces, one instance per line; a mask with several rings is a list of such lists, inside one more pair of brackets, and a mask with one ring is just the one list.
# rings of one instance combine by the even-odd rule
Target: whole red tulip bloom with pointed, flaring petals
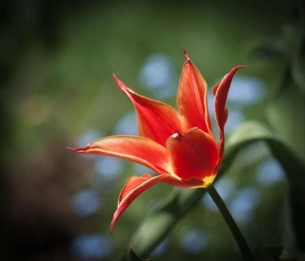
[[180,188],[206,187],[214,181],[222,163],[228,91],[235,72],[245,66],[233,68],[212,89],[215,118],[220,130],[217,144],[208,113],[207,84],[183,47],[182,50],[186,62],[179,80],[178,110],[136,94],[113,74],[116,83],[136,109],[139,136],[109,136],[85,148],[71,149],[83,154],[127,159],[158,173],[156,177],[146,174],[142,177],[132,176],[127,180],[119,194],[117,210],[111,222],[111,234],[117,218],[149,187],[158,182]]

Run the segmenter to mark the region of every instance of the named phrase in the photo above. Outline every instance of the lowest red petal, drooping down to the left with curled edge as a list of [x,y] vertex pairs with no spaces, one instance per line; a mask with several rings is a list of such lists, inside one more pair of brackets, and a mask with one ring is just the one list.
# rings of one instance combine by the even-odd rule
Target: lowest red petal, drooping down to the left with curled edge
[[198,188],[204,185],[203,181],[195,178],[187,181],[180,181],[179,179],[170,175],[160,175],[153,177],[150,174],[146,174],[142,177],[133,176],[129,178],[118,197],[117,209],[113,215],[113,219],[110,226],[111,234],[115,221],[127,209],[127,207],[141,193],[143,193],[146,189],[155,185],[158,182],[167,183],[180,188]]

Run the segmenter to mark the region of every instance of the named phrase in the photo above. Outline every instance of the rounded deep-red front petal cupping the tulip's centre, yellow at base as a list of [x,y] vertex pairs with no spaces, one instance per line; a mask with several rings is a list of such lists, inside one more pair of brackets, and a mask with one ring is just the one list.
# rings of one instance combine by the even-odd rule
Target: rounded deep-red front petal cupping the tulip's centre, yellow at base
[[208,184],[214,180],[214,168],[219,161],[214,137],[192,128],[184,134],[172,135],[166,146],[172,169],[180,179],[194,177]]

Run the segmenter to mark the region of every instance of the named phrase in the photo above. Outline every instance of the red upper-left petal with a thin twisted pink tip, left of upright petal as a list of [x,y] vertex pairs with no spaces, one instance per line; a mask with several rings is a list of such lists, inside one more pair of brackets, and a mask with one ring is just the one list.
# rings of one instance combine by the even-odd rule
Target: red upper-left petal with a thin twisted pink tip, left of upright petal
[[180,115],[173,107],[136,94],[123,82],[113,77],[119,88],[132,101],[137,111],[139,135],[165,147],[165,142],[176,130],[181,131]]

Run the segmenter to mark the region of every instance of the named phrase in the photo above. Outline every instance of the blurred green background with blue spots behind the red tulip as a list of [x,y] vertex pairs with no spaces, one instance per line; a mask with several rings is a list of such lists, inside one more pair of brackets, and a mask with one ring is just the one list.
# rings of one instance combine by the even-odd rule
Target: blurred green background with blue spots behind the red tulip
[[[6,2],[0,43],[2,255],[115,260],[127,249],[133,231],[172,187],[158,184],[139,196],[110,236],[127,178],[153,172],[66,147],[137,135],[133,105],[112,73],[137,93],[175,106],[185,60],[181,45],[208,83],[211,113],[212,86],[233,67],[248,65],[231,85],[226,135],[242,122],[259,121],[305,159],[303,7],[301,1],[273,0]],[[264,143],[243,150],[216,188],[258,260],[265,258],[264,246],[287,239],[288,184]],[[208,195],[149,257],[241,260]]]

